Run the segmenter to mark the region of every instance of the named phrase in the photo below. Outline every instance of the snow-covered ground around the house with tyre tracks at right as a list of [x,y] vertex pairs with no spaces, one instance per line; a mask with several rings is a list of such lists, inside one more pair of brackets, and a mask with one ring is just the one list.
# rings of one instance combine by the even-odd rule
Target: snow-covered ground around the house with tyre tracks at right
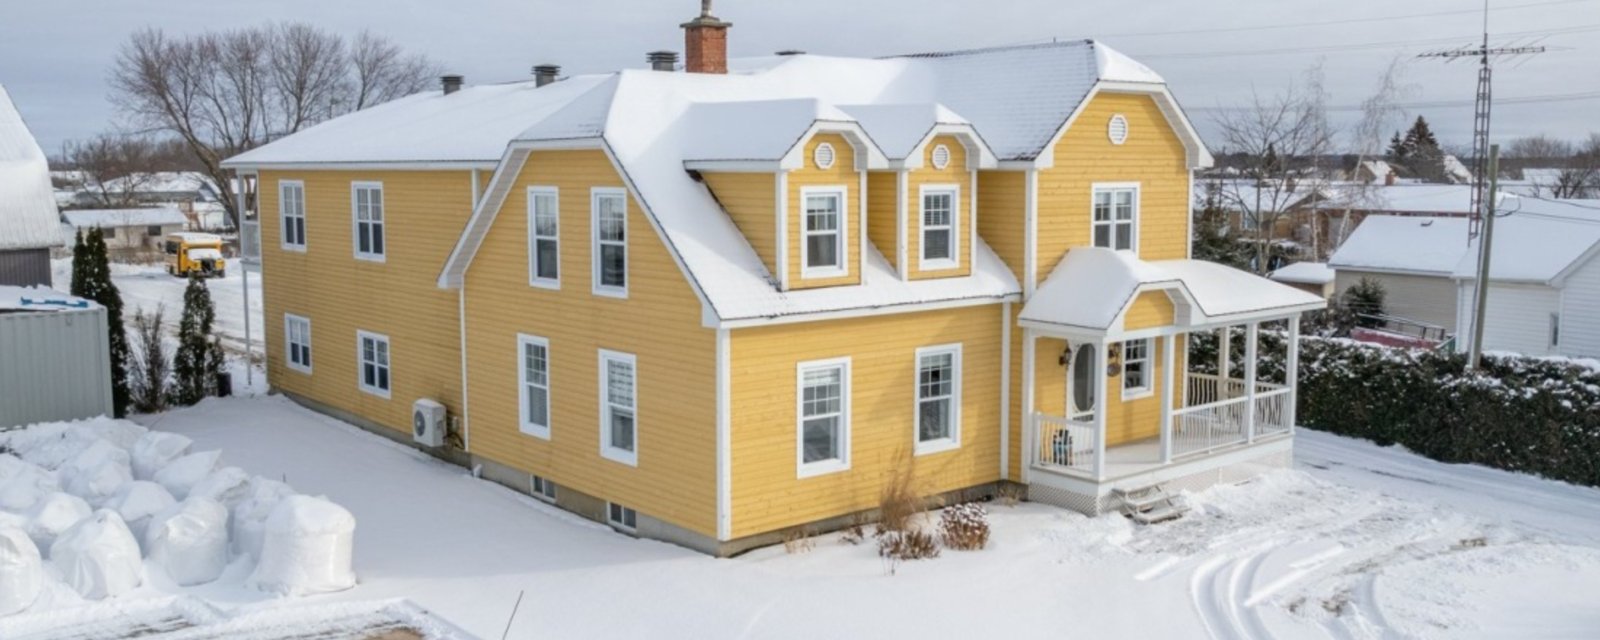
[[[360,586],[272,600],[230,568],[134,602],[182,594],[248,618],[406,600],[477,637],[1600,635],[1600,490],[1309,430],[1294,470],[1189,496],[1181,520],[992,504],[989,549],[891,574],[838,536],[731,560],[630,539],[278,397],[141,422],[350,509]],[[26,613],[0,637],[104,608]]]

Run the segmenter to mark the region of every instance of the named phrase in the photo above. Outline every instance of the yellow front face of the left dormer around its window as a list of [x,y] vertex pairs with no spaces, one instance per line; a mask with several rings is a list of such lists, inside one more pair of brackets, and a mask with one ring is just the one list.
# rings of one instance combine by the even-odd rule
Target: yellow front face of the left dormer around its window
[[[834,166],[816,166],[816,147],[834,146]],[[802,274],[805,242],[805,198],[808,187],[838,187],[845,190],[845,264],[848,274],[832,278],[805,278]],[[845,136],[818,133],[805,144],[805,168],[789,171],[789,288],[859,285],[861,283],[861,171],[856,171],[856,150]]]

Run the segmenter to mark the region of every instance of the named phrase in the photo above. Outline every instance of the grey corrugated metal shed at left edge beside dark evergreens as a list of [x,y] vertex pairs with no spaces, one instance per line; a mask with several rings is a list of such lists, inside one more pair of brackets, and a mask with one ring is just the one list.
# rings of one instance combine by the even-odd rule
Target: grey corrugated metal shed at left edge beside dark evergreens
[[106,307],[0,286],[0,430],[110,413]]

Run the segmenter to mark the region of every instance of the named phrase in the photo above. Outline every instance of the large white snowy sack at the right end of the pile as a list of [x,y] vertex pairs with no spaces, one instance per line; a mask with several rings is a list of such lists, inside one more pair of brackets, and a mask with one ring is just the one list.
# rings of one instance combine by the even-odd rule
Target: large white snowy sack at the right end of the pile
[[355,517],[344,507],[323,498],[285,498],[267,518],[261,562],[250,584],[285,595],[350,589],[354,541]]

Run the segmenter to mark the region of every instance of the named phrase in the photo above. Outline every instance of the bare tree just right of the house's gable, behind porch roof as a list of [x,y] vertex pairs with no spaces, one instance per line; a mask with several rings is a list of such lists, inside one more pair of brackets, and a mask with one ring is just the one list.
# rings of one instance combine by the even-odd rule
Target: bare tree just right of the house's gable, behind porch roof
[[1254,270],[1270,270],[1274,230],[1291,205],[1318,190],[1315,163],[1331,146],[1322,66],[1277,96],[1253,96],[1250,107],[1221,110],[1222,144],[1242,162],[1240,174],[1221,184],[1226,208],[1242,216],[1243,237],[1256,246]]

